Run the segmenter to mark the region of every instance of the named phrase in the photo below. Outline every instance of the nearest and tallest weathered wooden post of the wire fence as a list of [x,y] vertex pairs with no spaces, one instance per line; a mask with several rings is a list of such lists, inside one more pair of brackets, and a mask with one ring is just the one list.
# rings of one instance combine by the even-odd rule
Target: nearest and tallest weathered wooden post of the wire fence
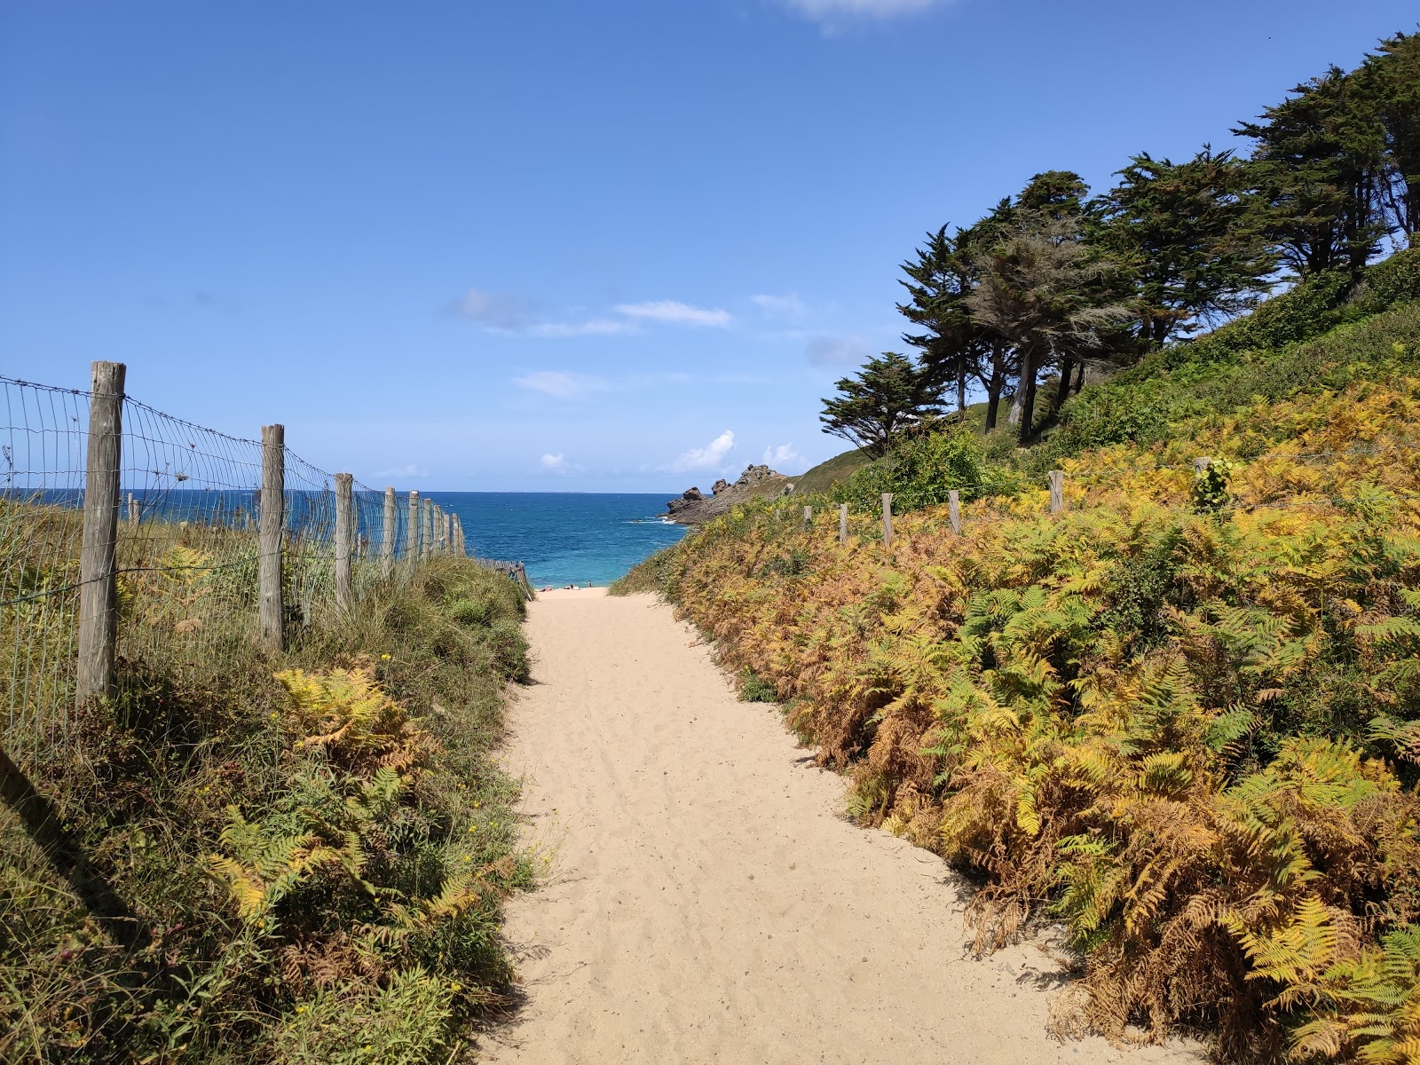
[[80,547],[78,696],[114,690],[118,640],[118,491],[124,442],[122,362],[92,364],[84,538]]

